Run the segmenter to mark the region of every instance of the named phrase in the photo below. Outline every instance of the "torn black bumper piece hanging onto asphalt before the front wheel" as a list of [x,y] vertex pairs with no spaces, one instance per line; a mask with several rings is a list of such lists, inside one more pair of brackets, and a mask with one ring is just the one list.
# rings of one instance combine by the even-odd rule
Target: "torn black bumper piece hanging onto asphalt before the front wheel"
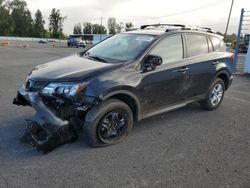
[[43,154],[77,139],[77,133],[70,125],[57,127],[45,124],[41,126],[32,120],[26,120],[26,122],[28,126],[25,133],[25,137],[28,137],[26,140],[38,151],[42,151]]

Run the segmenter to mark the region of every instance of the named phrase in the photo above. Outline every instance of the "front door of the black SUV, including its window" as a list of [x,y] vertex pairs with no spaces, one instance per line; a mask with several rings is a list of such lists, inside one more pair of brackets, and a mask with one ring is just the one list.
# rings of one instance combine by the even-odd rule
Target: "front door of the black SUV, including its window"
[[160,40],[149,53],[163,59],[155,70],[141,73],[139,91],[143,114],[183,101],[189,90],[189,67],[185,64],[181,34]]

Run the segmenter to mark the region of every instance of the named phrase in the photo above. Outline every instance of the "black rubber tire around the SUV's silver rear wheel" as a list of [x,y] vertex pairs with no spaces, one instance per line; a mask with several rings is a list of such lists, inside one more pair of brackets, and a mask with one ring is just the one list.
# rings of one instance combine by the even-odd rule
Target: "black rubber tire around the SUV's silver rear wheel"
[[[213,91],[215,89],[215,87],[218,87],[218,86],[221,86],[222,88],[222,94],[221,94],[221,98],[220,100],[218,101],[218,98],[217,98],[217,102],[216,104],[213,104],[212,103],[212,97],[213,97]],[[204,110],[215,110],[216,108],[218,108],[221,104],[221,102],[223,101],[223,98],[224,98],[224,93],[225,93],[225,83],[222,79],[220,78],[216,78],[212,84],[210,85],[209,87],[209,90],[207,92],[207,95],[206,95],[206,99],[204,99],[203,101],[200,102],[201,104],[201,107],[204,109]],[[216,97],[215,97],[216,98]]]

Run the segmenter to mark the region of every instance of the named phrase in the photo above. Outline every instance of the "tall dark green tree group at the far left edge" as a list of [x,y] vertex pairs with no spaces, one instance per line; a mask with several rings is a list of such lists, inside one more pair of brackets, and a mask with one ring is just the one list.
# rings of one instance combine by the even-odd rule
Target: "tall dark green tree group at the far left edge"
[[0,36],[65,38],[65,19],[60,10],[53,8],[47,30],[41,10],[36,11],[33,19],[25,0],[0,0]]

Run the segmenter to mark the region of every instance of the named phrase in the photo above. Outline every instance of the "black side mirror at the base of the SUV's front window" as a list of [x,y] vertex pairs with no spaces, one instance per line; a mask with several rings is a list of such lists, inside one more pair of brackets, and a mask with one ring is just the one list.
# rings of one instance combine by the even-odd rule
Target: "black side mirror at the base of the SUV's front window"
[[160,66],[162,62],[163,60],[160,56],[147,55],[142,66],[142,72],[155,70],[155,67]]

